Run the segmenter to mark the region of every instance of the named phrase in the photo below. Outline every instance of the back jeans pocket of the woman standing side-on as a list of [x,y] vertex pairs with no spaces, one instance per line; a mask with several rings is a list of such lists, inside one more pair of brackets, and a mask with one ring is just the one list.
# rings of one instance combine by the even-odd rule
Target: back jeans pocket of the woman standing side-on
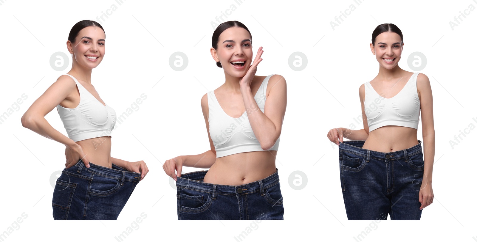
[[56,179],[52,200],[54,220],[66,220],[68,218],[75,189],[76,183]]

